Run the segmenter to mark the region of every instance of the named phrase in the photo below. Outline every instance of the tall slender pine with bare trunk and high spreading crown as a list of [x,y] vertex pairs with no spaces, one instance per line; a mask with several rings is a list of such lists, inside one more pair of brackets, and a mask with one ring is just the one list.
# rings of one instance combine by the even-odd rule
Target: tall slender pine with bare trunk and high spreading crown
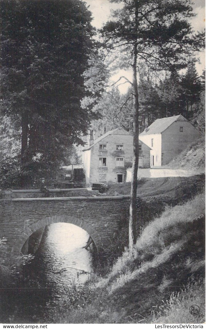
[[[190,0],[112,0],[122,3],[122,9],[113,12],[113,21],[102,29],[102,36],[111,52],[118,48],[122,66],[132,66],[133,112],[133,166],[130,194],[129,250],[136,242],[136,193],[139,160],[139,90],[137,64],[144,61],[151,70],[175,71],[184,68],[187,57],[204,47],[203,36],[192,37],[188,18],[193,16]],[[201,41],[201,42],[200,42]],[[125,55],[125,56],[124,56]]]

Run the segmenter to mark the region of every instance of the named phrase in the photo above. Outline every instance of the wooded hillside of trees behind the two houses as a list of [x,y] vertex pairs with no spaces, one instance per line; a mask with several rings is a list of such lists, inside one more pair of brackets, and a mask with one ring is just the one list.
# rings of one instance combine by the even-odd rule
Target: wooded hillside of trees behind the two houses
[[[199,110],[201,92],[205,90],[205,71],[198,77],[195,67],[195,76],[189,76],[188,64],[185,73],[175,75],[166,73],[165,77],[157,78],[145,66],[139,65],[139,132],[141,133],[156,119],[182,114],[192,119]],[[189,103],[188,86],[192,106]],[[190,104],[188,108],[188,104]],[[105,130],[123,127],[129,130],[133,114],[133,97],[131,87],[125,94],[121,94],[116,86],[106,90],[94,107],[101,114],[99,120],[92,122],[92,129],[103,134]],[[103,129],[104,127],[104,129]]]

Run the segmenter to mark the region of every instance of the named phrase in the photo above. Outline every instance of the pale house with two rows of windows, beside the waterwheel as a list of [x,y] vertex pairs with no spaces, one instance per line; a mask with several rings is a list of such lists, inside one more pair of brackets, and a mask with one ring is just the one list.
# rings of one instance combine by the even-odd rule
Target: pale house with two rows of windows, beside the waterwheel
[[[140,166],[149,167],[150,148],[139,143]],[[86,183],[123,183],[126,181],[126,168],[131,167],[133,159],[133,136],[123,128],[108,131],[93,139],[82,151],[82,163]]]

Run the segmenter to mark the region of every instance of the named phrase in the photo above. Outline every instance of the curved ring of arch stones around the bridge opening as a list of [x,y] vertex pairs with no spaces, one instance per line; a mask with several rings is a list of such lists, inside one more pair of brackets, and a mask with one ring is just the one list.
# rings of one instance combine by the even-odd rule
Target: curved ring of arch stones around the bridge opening
[[85,220],[75,217],[75,216],[70,216],[70,215],[53,215],[53,216],[48,216],[43,219],[39,219],[36,221],[34,224],[29,225],[28,227],[25,228],[24,232],[19,236],[19,238],[16,240],[16,243],[14,244],[13,252],[16,254],[19,254],[21,252],[21,249],[26,242],[26,240],[38,229],[41,227],[44,227],[46,225],[54,224],[54,223],[69,223],[69,224],[74,224],[83,230],[85,230],[93,239],[97,251],[99,252],[102,248],[102,239],[97,233],[97,231],[90,225],[88,224]]

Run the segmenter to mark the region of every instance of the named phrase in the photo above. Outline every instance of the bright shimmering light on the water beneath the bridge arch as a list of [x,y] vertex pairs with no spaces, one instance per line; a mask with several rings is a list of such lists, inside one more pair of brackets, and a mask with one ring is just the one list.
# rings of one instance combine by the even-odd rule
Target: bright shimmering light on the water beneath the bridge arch
[[[73,282],[84,283],[91,272],[92,257],[86,245],[89,235],[68,223],[47,226],[33,264],[34,272],[47,287],[62,290]],[[84,273],[84,274],[83,274]]]

